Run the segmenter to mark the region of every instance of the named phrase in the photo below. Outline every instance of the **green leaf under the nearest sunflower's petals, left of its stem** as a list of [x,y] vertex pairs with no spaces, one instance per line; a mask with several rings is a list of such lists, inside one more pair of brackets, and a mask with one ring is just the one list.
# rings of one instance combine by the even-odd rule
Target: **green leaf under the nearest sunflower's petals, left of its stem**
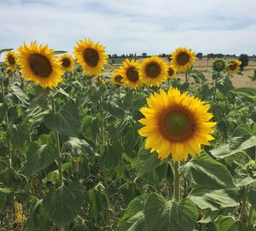
[[157,153],[150,153],[150,149],[144,149],[143,144],[137,153],[137,177],[143,176],[161,164],[162,161],[157,158]]

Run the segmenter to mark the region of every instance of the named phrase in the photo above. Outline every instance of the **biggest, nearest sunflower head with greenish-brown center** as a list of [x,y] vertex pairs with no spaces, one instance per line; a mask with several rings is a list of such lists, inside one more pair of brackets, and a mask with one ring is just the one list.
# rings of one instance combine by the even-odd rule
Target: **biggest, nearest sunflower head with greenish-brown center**
[[177,89],[160,90],[147,102],[148,107],[140,110],[145,118],[139,121],[145,126],[138,133],[147,137],[145,147],[156,151],[159,159],[172,155],[173,161],[186,160],[189,154],[201,153],[201,144],[210,145],[214,139],[211,134],[216,123],[209,122],[210,106],[194,96]]

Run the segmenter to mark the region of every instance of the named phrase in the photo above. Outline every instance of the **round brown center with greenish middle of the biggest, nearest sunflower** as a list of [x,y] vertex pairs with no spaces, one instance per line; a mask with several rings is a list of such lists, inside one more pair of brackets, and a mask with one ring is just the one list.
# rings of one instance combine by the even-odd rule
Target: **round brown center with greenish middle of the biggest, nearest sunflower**
[[160,116],[161,134],[172,142],[188,140],[195,133],[195,118],[183,108],[170,108]]

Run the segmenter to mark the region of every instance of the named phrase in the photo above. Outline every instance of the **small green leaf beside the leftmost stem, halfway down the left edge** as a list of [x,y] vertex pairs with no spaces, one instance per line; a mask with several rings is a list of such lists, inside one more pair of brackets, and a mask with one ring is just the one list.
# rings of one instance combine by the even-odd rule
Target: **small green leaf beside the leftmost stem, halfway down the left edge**
[[14,147],[22,148],[28,138],[28,131],[24,126],[13,124],[9,136]]

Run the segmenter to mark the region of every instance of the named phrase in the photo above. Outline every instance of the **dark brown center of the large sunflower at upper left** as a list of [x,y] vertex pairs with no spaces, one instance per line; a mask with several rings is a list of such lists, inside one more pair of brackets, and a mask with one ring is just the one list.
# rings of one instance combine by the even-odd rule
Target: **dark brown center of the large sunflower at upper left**
[[39,77],[46,78],[49,77],[50,73],[52,72],[52,66],[50,64],[49,59],[40,54],[32,54],[29,57],[30,67],[34,74],[38,75]]

